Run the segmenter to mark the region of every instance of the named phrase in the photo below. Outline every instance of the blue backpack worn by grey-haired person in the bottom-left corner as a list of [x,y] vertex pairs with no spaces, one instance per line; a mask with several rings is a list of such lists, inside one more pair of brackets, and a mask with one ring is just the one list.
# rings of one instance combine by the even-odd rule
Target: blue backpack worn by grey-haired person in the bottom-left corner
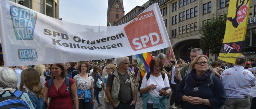
[[[11,96],[3,97],[6,91],[9,91]],[[23,92],[16,90],[12,93],[10,90],[5,90],[0,94],[0,109],[30,109],[26,101],[21,99]]]

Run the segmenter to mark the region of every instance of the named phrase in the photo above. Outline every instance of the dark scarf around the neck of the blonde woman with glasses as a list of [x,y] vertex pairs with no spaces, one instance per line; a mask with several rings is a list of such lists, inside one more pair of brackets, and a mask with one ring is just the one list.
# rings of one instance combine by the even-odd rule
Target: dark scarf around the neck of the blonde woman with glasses
[[192,87],[198,87],[198,86],[202,85],[208,79],[210,74],[211,74],[211,70],[208,69],[203,75],[198,77],[196,75],[196,70],[191,70],[189,78],[188,78],[189,84]]

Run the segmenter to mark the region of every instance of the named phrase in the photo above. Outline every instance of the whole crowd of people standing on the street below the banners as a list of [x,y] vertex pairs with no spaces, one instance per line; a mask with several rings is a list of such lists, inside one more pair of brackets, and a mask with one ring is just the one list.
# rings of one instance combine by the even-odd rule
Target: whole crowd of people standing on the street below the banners
[[[252,98],[256,108],[255,64],[238,56],[234,64],[209,60],[200,48],[190,52],[191,62],[177,65],[160,53],[142,74],[136,61],[119,57],[100,62],[68,62],[0,67],[0,94],[18,90],[31,109],[246,109]],[[100,92],[103,91],[103,95]],[[95,104],[95,99],[97,105]]]

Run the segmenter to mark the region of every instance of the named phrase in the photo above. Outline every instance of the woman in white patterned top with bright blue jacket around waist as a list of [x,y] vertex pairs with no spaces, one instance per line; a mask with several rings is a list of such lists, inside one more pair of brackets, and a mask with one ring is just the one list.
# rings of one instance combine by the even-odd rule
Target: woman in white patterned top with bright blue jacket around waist
[[87,74],[87,70],[90,68],[90,65],[87,62],[81,62],[79,66],[79,71],[81,73],[75,75],[73,78],[77,85],[78,107],[79,109],[92,109],[94,104],[94,79],[92,76]]

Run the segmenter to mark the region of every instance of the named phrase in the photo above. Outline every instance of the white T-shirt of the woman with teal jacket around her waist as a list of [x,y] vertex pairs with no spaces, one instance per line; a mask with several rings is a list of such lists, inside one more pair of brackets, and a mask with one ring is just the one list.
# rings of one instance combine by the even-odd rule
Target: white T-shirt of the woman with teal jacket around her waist
[[[142,80],[140,89],[145,88],[145,87],[147,87],[147,86],[150,86],[151,84],[157,85],[157,86],[156,86],[156,89],[154,89],[154,90],[149,89],[148,92],[149,92],[149,94],[150,94],[152,97],[160,97],[160,96],[159,96],[159,89],[162,89],[162,88],[164,88],[164,87],[170,87],[167,74],[165,74],[164,80],[163,80],[163,78],[162,78],[162,75],[160,75],[160,76],[158,76],[158,77],[155,77],[155,76],[153,76],[153,75],[150,75],[150,76],[149,76],[149,79],[148,79],[148,82],[147,82],[147,77],[146,77],[147,74],[148,74],[148,73],[146,73],[146,74],[144,75],[144,77],[143,77],[143,80]],[[168,89],[168,90],[171,91],[171,89]],[[151,104],[152,104],[152,103],[153,103],[153,100],[152,100],[152,99],[149,99],[148,103],[151,103]]]

